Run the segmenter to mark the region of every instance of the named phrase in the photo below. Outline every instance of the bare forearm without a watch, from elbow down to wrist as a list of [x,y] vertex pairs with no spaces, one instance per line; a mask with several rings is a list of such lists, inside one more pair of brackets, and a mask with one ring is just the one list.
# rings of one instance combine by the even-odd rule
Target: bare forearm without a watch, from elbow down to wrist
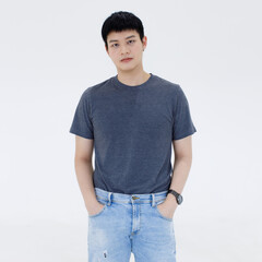
[[97,202],[93,182],[92,160],[75,158],[74,163],[79,187],[83,195],[85,206],[88,210],[95,202]]

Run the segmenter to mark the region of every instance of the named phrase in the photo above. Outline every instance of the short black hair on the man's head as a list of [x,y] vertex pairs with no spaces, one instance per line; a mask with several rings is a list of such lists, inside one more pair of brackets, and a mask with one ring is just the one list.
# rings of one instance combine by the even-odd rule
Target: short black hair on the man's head
[[111,13],[102,26],[102,38],[105,41],[106,48],[108,49],[107,36],[110,32],[122,32],[126,29],[135,29],[140,35],[141,41],[143,41],[144,27],[138,16],[127,11]]

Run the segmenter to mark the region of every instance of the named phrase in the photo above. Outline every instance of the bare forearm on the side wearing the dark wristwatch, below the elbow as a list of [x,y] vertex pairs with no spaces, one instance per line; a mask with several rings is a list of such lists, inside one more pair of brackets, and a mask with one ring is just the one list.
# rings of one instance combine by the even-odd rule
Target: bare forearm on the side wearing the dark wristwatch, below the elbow
[[[182,156],[175,160],[172,178],[169,189],[175,190],[178,193],[182,193],[186,181],[191,168],[192,157]],[[170,205],[177,205],[177,201],[172,194],[167,194],[167,202]]]

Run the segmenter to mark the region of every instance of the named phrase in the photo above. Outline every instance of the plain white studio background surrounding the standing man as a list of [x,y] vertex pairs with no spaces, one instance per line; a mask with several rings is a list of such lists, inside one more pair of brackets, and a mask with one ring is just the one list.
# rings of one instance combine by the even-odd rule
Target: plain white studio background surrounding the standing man
[[177,260],[262,261],[261,5],[2,1],[0,260],[87,261],[87,212],[69,128],[82,92],[117,74],[103,22],[130,11],[148,39],[144,70],[180,84],[196,128],[174,217]]

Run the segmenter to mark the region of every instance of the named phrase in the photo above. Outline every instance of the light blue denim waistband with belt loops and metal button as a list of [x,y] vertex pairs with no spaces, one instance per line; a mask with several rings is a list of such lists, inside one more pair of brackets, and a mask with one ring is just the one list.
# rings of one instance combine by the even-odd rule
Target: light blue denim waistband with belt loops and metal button
[[167,196],[168,190],[157,192],[157,193],[148,193],[148,194],[124,194],[124,193],[115,193],[109,192],[99,188],[95,188],[95,193],[98,198],[108,201],[108,205],[111,202],[120,202],[120,203],[151,203],[153,206],[155,202],[165,200]]

